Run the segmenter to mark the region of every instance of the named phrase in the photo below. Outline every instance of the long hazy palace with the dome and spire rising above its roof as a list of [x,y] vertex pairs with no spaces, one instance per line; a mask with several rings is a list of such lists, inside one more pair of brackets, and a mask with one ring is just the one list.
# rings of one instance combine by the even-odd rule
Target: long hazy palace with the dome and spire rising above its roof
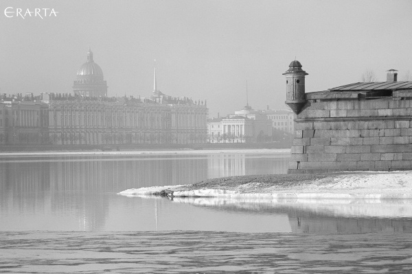
[[87,53],[73,95],[1,95],[0,145],[187,144],[207,140],[206,101],[163,94],[106,97],[102,69]]

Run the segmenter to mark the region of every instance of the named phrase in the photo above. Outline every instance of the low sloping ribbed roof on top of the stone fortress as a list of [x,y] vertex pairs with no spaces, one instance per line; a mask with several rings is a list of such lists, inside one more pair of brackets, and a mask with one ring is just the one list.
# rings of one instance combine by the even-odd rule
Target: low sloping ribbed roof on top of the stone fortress
[[370,82],[354,83],[345,86],[330,88],[330,91],[355,91],[355,90],[404,90],[412,88],[412,82]]

